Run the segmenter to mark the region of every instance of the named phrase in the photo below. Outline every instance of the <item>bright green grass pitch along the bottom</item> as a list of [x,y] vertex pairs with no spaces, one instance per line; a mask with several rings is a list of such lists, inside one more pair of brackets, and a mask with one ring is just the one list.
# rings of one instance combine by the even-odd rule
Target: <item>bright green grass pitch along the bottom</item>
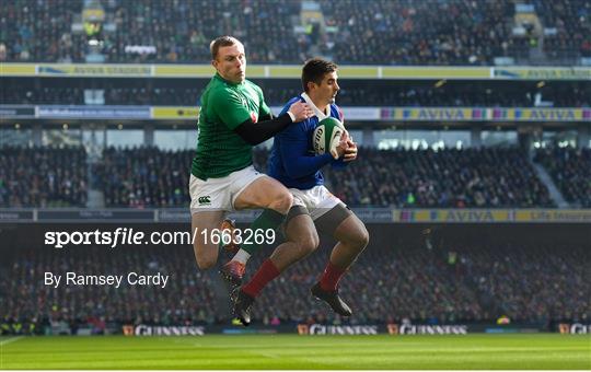
[[1,369],[591,370],[589,335],[0,338]]

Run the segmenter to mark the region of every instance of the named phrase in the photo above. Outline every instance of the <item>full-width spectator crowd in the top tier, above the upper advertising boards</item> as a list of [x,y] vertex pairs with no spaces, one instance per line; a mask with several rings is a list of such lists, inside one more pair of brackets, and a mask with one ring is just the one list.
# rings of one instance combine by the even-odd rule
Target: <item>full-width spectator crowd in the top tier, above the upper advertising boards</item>
[[[83,2],[18,0],[1,8],[1,61],[83,61],[86,39],[73,32]],[[493,65],[529,48],[511,34],[511,1],[320,0],[102,1],[107,62],[209,61],[209,40],[233,34],[257,63],[301,63],[318,53],[340,63]],[[589,56],[589,4],[535,1],[547,27],[544,50]],[[302,14],[312,13],[305,21]],[[106,27],[106,24],[109,26]],[[397,47],[392,48],[392,45]],[[136,47],[136,48],[134,48]]]

